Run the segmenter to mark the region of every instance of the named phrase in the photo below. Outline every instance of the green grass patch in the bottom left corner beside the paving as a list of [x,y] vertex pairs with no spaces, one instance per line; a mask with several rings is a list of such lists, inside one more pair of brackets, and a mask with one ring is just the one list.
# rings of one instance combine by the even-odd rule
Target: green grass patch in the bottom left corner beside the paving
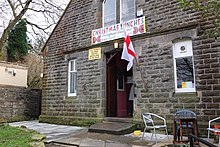
[[33,130],[7,125],[0,126],[0,147],[29,147],[35,141],[33,135],[38,134]]

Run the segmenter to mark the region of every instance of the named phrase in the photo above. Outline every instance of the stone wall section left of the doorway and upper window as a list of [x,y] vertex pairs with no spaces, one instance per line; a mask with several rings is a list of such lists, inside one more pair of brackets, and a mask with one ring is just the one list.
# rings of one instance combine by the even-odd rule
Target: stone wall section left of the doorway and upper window
[[[101,8],[100,0],[71,1],[50,36],[48,55],[44,58],[41,121],[55,122],[51,117],[60,118],[56,123],[63,123],[65,118],[66,123],[80,118],[103,118],[103,62],[88,62],[87,50],[80,49],[90,46],[91,30],[101,27]],[[65,53],[77,49],[80,52]],[[70,59],[77,59],[77,97],[67,96]]]

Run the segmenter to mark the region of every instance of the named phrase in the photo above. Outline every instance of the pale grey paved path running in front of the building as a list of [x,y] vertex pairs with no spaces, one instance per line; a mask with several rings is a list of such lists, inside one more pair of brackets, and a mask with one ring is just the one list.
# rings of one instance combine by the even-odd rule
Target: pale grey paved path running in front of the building
[[[10,123],[11,126],[26,126],[46,135],[46,147],[160,147],[171,144],[164,135],[158,135],[158,144],[151,140],[151,134],[145,133],[144,140],[141,136],[110,135],[105,133],[89,133],[87,128],[76,126],[55,125],[39,123],[38,121],[23,121]],[[170,140],[172,137],[170,136]]]

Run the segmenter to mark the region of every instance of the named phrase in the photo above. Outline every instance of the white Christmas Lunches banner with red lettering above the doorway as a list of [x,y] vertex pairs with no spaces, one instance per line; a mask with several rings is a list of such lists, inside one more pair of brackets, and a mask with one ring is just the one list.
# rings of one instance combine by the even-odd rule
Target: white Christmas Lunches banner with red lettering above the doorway
[[146,32],[145,16],[127,22],[92,30],[92,44],[124,37],[124,28],[129,36]]

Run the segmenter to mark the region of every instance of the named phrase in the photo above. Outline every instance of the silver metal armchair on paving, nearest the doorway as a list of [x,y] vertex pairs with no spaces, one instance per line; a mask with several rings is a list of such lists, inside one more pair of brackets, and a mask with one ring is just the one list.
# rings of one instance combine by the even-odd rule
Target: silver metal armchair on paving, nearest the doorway
[[[169,139],[168,132],[167,132],[166,120],[163,117],[156,115],[156,114],[153,114],[153,113],[142,114],[142,117],[143,117],[144,125],[145,125],[144,132],[142,135],[142,140],[143,140],[145,131],[147,129],[153,130],[153,133],[151,135],[151,140],[153,139],[153,135],[155,135],[156,143],[157,143],[156,129],[165,129],[167,138]],[[159,123],[161,125],[159,125]]]

